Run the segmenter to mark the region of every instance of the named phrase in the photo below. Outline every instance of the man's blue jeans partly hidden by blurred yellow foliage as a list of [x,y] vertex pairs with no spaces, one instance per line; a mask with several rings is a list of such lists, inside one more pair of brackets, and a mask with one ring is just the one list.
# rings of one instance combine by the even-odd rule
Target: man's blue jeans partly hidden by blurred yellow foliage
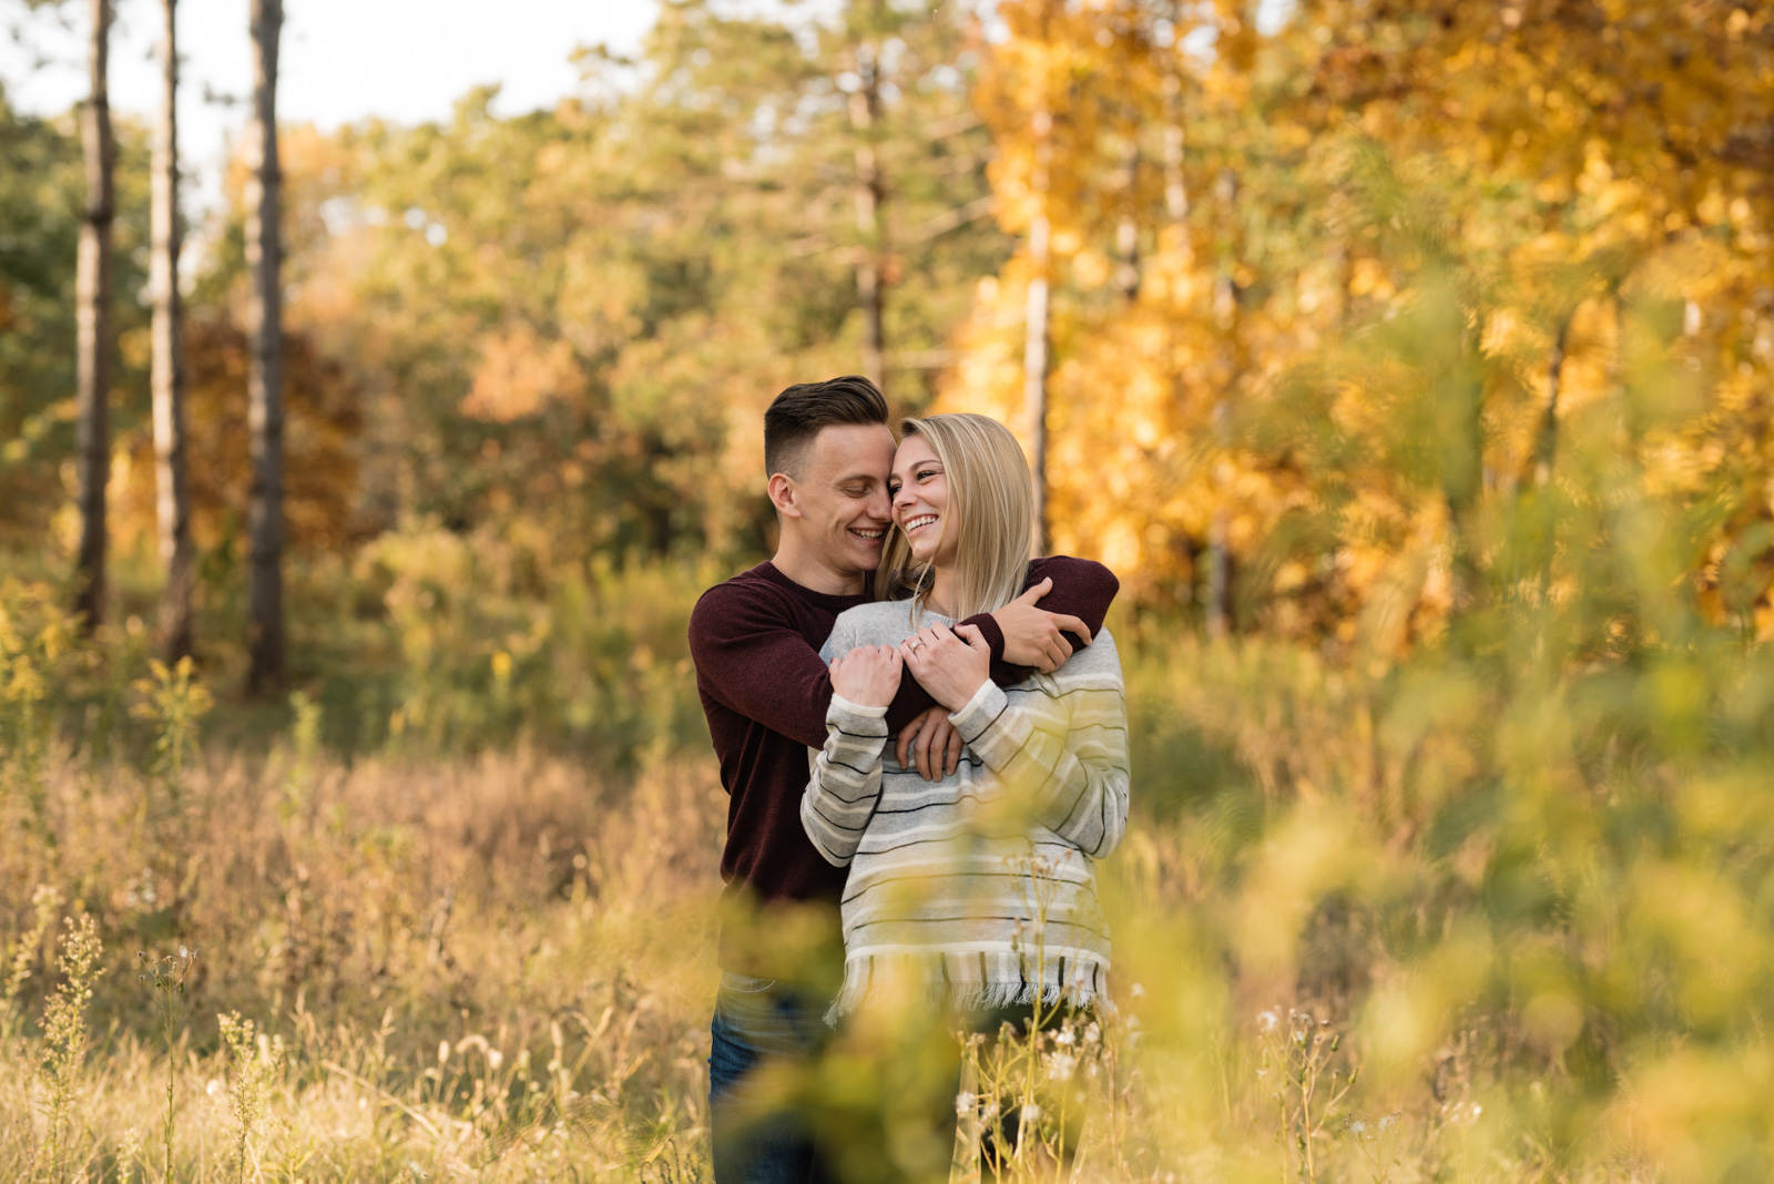
[[[761,1081],[759,1069],[793,1074],[820,1055],[832,1000],[804,985],[720,973],[710,1024],[708,1111],[715,1184],[820,1184],[828,1180],[793,1083]],[[784,1097],[784,1094],[789,1094]]]

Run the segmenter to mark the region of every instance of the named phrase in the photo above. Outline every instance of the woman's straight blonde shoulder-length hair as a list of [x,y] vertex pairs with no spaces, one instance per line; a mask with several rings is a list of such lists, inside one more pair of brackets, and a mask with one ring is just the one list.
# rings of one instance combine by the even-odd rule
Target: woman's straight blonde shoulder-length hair
[[[985,415],[931,415],[905,420],[903,440],[919,436],[942,463],[949,503],[942,514],[942,541],[954,537],[954,619],[990,613],[1022,596],[1034,557],[1034,484],[1029,461],[1009,429]],[[901,441],[903,441],[901,440]],[[912,599],[914,622],[930,590],[931,564],[914,571],[912,542],[894,530],[882,549],[882,576],[875,596]]]

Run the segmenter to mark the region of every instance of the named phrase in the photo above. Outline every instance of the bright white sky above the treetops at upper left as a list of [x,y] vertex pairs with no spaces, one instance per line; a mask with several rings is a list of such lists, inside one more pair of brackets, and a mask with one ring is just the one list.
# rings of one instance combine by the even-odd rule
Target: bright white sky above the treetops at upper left
[[[115,0],[112,110],[149,122],[158,105],[160,0]],[[498,83],[500,115],[553,106],[578,85],[577,46],[639,48],[656,0],[286,0],[280,122],[332,129],[381,117],[444,119],[468,89]],[[51,115],[87,92],[87,4],[30,12],[0,0],[0,83],[14,108]],[[252,87],[247,0],[179,0],[179,149],[208,206]]]

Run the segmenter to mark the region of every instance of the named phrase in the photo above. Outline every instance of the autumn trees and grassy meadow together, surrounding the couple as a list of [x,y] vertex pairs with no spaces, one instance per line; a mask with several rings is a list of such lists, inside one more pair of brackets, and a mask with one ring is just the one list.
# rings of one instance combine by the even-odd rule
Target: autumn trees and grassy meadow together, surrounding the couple
[[[578,62],[553,110],[279,128],[254,695],[252,168],[184,284],[193,675],[151,666],[151,129],[117,124],[82,620],[82,133],[0,90],[0,1163],[204,1175],[234,1131],[293,1179],[699,1172],[685,620],[770,553],[770,397],[867,372],[1011,424],[1052,549],[1123,581],[1146,1051],[1098,1166],[1767,1177],[1765,12],[669,0]],[[204,957],[177,1024],[112,973],[57,1062],[82,916]],[[522,966],[458,936],[495,918]],[[144,1065],[192,1099],[163,1163]]]

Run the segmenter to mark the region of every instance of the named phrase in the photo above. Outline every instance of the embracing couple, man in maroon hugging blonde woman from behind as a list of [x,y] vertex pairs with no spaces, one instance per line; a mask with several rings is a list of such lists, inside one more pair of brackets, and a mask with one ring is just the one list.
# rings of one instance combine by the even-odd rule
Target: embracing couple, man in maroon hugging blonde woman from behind
[[830,1177],[766,1083],[889,994],[979,1032],[1105,1003],[1093,863],[1126,826],[1118,581],[1034,557],[1004,425],[896,441],[867,379],[804,383],[765,413],[765,468],[777,553],[690,619],[729,794],[717,1184]]

